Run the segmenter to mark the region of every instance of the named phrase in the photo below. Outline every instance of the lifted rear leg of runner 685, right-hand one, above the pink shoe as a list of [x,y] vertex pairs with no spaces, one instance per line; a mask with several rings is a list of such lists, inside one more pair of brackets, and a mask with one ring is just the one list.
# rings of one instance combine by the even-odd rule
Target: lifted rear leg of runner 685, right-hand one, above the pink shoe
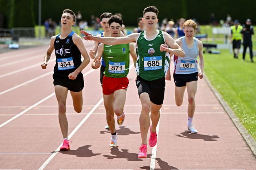
[[159,119],[160,119],[160,109],[162,108],[162,105],[156,105],[151,102],[151,108],[150,108],[150,118],[152,121],[151,130],[153,133],[156,132],[156,127],[158,125]]

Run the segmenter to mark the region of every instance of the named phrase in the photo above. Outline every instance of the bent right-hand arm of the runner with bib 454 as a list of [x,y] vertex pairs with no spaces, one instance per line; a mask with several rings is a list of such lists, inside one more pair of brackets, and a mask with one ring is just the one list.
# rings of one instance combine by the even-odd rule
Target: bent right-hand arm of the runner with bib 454
[[81,52],[81,54],[84,58],[81,65],[74,72],[72,72],[68,75],[68,77],[71,80],[74,80],[77,78],[77,75],[89,64],[90,58],[89,58],[89,55],[83,45],[83,41],[82,41],[81,37],[77,34],[74,34],[72,37],[72,40],[74,41],[74,44],[77,45],[79,51]]

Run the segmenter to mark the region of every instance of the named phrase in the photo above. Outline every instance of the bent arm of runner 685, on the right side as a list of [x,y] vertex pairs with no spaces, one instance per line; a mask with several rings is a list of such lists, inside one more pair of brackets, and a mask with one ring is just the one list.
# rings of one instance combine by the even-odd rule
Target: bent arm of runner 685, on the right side
[[166,32],[164,32],[164,40],[165,40],[166,44],[162,44],[160,46],[160,51],[161,52],[162,51],[169,52],[170,56],[172,56],[173,54],[176,55],[176,56],[179,56],[179,57],[184,57],[185,56],[185,52],[183,51],[183,49],[181,47],[179,47],[179,45],[177,43],[175,43],[175,41],[171,37],[171,35],[169,35]]

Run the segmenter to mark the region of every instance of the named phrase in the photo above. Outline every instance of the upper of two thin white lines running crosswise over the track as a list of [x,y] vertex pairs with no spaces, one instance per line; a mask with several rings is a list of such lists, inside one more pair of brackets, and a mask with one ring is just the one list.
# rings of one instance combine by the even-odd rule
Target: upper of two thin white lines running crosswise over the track
[[[83,105],[83,107],[93,107],[94,105]],[[164,106],[175,106],[177,107],[177,105],[163,105],[163,108]],[[181,105],[179,107],[182,107],[182,106],[188,106],[188,105]],[[209,105],[197,105],[198,106],[221,106],[221,105],[218,105],[218,104],[209,104]],[[27,108],[29,106],[27,105],[13,105],[13,106],[0,106],[0,108]],[[58,106],[57,105],[39,105],[37,106],[37,108],[57,108]],[[66,107],[73,107],[73,105],[66,105]],[[99,107],[104,107],[104,105],[99,105]],[[125,105],[125,107],[141,107],[141,105]]]

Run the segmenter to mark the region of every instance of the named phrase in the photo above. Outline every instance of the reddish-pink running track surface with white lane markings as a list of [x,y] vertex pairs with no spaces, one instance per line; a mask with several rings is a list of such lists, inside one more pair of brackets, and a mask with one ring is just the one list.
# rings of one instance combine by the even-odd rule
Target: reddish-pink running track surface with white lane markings
[[[88,51],[92,46],[85,41]],[[0,95],[0,169],[256,169],[255,157],[204,80],[198,81],[196,95],[199,133],[186,129],[187,96],[177,107],[173,80],[166,82],[157,147],[152,153],[148,146],[148,158],[138,159],[141,106],[134,67],[128,75],[125,123],[116,125],[118,147],[110,148],[99,69],[92,71],[91,63],[83,70],[83,111],[75,113],[70,94],[67,99],[71,149],[56,152],[62,135],[50,73],[54,53],[47,69],[40,67],[47,47],[0,54],[0,93],[8,90]]]

